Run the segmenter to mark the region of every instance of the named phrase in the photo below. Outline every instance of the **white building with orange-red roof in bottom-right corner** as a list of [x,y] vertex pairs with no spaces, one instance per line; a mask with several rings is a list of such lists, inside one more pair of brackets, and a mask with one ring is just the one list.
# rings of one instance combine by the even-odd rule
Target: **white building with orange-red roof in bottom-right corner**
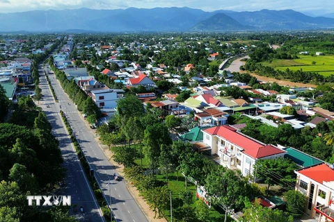
[[334,221],[334,167],[320,163],[295,171],[296,190],[307,196],[305,211],[319,221]]

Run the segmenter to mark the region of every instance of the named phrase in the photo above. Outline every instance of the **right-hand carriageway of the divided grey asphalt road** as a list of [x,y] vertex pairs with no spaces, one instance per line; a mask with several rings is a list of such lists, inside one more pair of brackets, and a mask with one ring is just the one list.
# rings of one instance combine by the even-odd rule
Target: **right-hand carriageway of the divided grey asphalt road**
[[99,144],[95,141],[95,133],[86,126],[82,114],[77,111],[76,106],[68,98],[67,94],[65,94],[56,80],[56,76],[49,74],[49,80],[60,102],[56,105],[56,109],[59,109],[59,105],[61,105],[62,110],[67,115],[67,119],[73,131],[76,132],[79,144],[86,155],[90,168],[94,170],[95,178],[100,187],[102,187],[108,204],[111,204],[116,221],[148,221],[141,208],[127,190],[122,178],[120,178],[120,181],[113,180],[113,173],[117,174],[115,167],[111,165],[106,155],[104,155]]

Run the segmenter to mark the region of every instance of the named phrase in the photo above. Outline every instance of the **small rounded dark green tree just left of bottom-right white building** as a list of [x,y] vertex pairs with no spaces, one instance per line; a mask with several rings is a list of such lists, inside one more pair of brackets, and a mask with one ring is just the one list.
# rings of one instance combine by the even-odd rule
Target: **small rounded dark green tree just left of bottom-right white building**
[[287,202],[287,212],[294,218],[298,218],[303,214],[308,198],[301,192],[294,189],[284,193],[284,199]]

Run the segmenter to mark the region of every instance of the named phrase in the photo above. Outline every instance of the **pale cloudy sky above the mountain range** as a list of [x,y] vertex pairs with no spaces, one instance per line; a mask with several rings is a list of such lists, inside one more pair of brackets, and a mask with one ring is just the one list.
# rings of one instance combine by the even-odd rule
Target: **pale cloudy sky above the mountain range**
[[118,8],[189,7],[207,12],[214,10],[255,11],[262,9],[292,9],[308,15],[334,13],[331,0],[0,0],[0,12],[23,12],[29,10],[63,10],[74,8],[118,9]]

